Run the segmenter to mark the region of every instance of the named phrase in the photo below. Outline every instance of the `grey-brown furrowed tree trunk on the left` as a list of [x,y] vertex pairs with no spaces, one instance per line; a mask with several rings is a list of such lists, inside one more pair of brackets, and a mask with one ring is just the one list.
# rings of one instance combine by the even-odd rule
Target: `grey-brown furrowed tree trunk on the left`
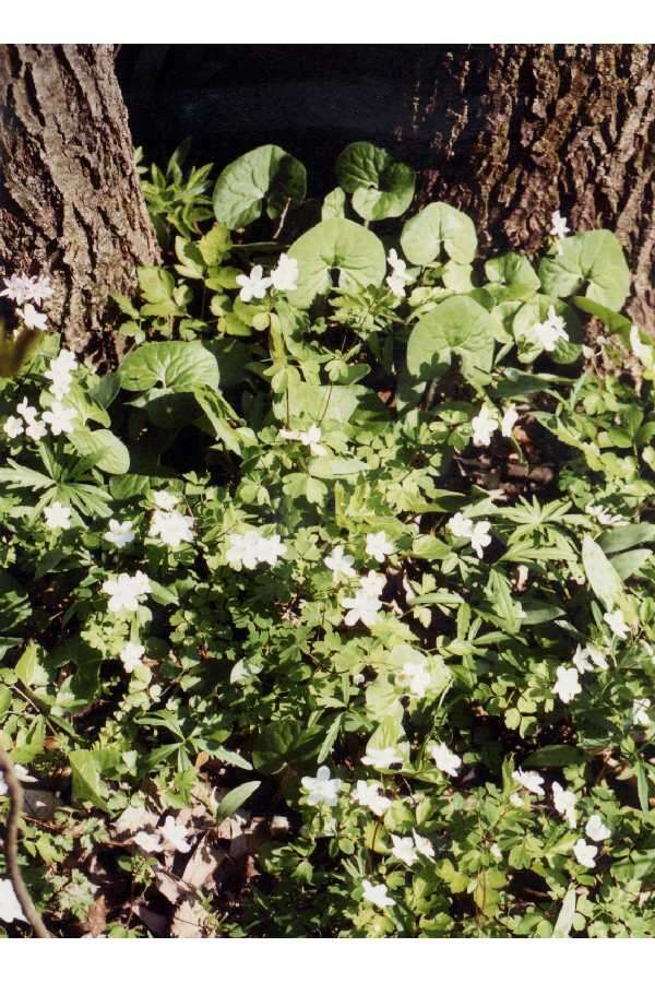
[[107,362],[108,293],[157,256],[114,47],[0,46],[0,274],[48,272],[50,321]]

